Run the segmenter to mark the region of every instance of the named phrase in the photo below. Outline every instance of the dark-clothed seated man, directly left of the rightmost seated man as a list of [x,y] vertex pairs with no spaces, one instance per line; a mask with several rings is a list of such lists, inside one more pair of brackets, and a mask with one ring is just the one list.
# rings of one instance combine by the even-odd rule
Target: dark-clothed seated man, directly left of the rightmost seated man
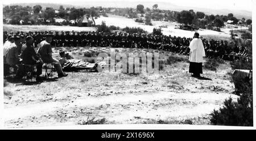
[[23,51],[20,57],[22,58],[22,63],[27,65],[36,64],[36,81],[40,80],[40,74],[42,74],[42,64],[43,60],[40,59],[39,55],[36,54],[35,49],[32,47],[33,39],[31,36],[27,36],[26,44],[22,45]]

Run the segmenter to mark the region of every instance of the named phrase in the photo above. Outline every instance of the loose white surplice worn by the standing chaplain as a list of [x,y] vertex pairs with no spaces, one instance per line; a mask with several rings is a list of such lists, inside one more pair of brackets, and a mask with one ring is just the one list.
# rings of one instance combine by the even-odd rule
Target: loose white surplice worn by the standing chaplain
[[203,57],[205,56],[204,45],[201,39],[194,38],[190,44],[189,61],[195,63],[203,63]]

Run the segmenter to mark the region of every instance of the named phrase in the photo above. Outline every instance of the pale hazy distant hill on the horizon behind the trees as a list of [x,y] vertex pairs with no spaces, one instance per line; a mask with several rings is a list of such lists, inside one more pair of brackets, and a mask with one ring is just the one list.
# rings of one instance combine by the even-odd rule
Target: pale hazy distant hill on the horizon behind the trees
[[194,11],[201,11],[205,14],[214,14],[214,15],[228,15],[229,13],[233,13],[234,16],[237,18],[245,18],[245,19],[251,19],[252,18],[252,12],[246,11],[246,10],[228,10],[228,9],[222,9],[222,10],[215,10],[215,9],[203,9],[199,7],[185,7],[185,6],[177,6],[169,2],[145,2],[145,1],[90,1],[90,2],[81,2],[81,1],[71,1],[71,2],[63,2],[62,4],[56,4],[56,3],[16,3],[12,5],[22,5],[22,6],[35,6],[35,5],[41,5],[43,9],[46,7],[53,7],[54,9],[59,9],[60,5],[63,5],[64,7],[96,7],[96,6],[102,6],[102,7],[131,7],[136,8],[138,4],[144,5],[144,8],[152,8],[152,5],[158,4],[159,9],[163,10],[173,10],[173,11],[182,11],[182,10],[191,10]]

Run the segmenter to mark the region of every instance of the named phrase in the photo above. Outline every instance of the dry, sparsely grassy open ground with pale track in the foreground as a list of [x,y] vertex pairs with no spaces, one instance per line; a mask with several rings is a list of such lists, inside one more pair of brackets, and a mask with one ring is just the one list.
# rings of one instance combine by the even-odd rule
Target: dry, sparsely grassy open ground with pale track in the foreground
[[[75,59],[97,60],[97,52],[109,48],[64,49]],[[118,52],[128,49],[117,48]],[[129,49],[130,52],[152,52]],[[90,52],[91,57],[84,53]],[[222,106],[234,85],[228,62],[216,71],[203,70],[199,80],[188,73],[187,56],[167,62],[170,52],[159,51],[163,69],[159,74],[109,72],[68,72],[67,77],[24,83],[5,80],[5,127],[59,125],[168,123],[208,125],[209,114]],[[87,55],[88,56],[88,55]],[[56,72],[54,73],[56,77]]]

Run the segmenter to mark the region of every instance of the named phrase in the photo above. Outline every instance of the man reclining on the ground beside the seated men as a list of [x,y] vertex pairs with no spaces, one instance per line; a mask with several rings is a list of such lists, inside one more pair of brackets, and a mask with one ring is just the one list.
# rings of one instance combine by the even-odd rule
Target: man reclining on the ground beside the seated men
[[72,59],[71,56],[68,55],[68,53],[65,53],[65,51],[60,52],[59,62],[61,64],[63,71],[65,72],[85,70],[85,69],[97,70],[98,65],[101,68],[104,67],[104,65],[106,65],[105,62],[89,63],[81,60]]

